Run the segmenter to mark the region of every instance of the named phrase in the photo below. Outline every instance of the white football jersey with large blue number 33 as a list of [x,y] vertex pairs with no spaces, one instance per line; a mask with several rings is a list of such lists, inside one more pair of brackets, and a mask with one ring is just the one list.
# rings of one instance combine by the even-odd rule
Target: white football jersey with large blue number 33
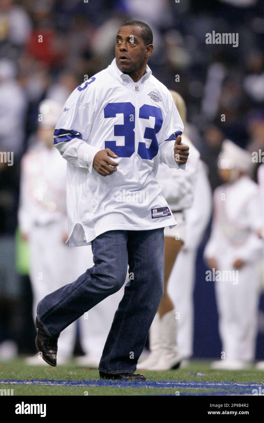
[[[91,244],[110,230],[173,227],[175,219],[155,178],[159,159],[170,168],[183,124],[168,89],[146,67],[134,82],[115,59],[83,82],[64,104],[54,144],[67,160],[69,246]],[[101,176],[95,154],[110,148],[117,171]]]

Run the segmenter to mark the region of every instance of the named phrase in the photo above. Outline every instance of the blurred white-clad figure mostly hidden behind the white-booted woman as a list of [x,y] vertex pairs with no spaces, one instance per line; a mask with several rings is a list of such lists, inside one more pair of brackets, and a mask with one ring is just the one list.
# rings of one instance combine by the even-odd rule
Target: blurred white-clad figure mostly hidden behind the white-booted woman
[[168,294],[178,313],[177,343],[182,358],[181,367],[189,364],[193,354],[195,262],[212,211],[212,190],[207,173],[206,165],[200,159],[195,174],[193,202],[184,211],[186,221],[184,245],[168,281]]

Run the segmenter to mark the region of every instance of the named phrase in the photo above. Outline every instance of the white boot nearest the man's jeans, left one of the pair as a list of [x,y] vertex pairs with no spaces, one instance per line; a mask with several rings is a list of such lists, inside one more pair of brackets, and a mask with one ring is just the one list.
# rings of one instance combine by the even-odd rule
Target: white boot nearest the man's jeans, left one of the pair
[[162,350],[159,313],[156,313],[149,330],[149,349],[150,354],[148,354],[146,360],[137,365],[137,370],[152,370],[153,366],[156,365],[159,360]]

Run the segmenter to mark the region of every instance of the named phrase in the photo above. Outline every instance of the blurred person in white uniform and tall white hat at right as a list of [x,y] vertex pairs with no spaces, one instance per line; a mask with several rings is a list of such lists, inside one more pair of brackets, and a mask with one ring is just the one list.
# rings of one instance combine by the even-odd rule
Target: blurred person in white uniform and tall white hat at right
[[204,250],[206,282],[215,283],[222,341],[212,368],[242,370],[254,360],[263,241],[258,185],[250,179],[251,154],[224,140],[218,169],[225,182],[214,191],[212,232]]

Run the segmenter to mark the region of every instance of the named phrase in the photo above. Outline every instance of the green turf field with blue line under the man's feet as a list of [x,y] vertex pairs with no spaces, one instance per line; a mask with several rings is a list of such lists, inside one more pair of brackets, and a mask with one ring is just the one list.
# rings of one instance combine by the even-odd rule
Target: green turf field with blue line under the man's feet
[[264,372],[256,368],[215,371],[202,360],[184,369],[144,374],[146,382],[101,381],[98,370],[74,361],[51,367],[28,366],[19,359],[0,362],[0,389],[13,389],[14,396],[252,395],[253,389],[264,389]]

